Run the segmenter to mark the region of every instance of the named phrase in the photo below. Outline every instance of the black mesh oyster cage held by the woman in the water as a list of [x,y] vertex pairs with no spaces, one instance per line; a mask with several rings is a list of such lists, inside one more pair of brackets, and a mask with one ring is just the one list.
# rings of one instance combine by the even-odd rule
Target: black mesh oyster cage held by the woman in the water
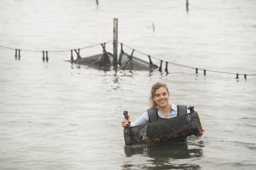
[[125,145],[150,145],[179,141],[197,132],[202,132],[202,125],[198,114],[192,112],[126,128],[124,129],[124,140]]

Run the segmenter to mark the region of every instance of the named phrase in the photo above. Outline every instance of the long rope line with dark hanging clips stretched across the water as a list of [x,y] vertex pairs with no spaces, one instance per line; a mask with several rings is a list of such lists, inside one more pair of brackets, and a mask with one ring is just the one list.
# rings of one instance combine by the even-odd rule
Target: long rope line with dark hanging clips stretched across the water
[[[83,50],[83,49],[86,49],[86,48],[92,48],[94,46],[99,46],[99,45],[101,45],[101,46],[104,45],[105,46],[106,43],[110,43],[112,41],[113,40],[109,40],[109,41],[107,41],[105,43],[99,43],[99,44],[95,44],[95,45],[91,45],[91,46],[84,46],[83,48],[77,48],[77,49],[72,49],[72,50],[48,50],[48,51],[47,50],[26,50],[26,49],[12,48],[10,46],[2,46],[2,45],[0,45],[0,48],[6,48],[6,49],[9,49],[9,50],[15,50],[15,59],[16,60],[17,59],[20,60],[20,52],[21,51],[24,51],[24,52],[40,52],[43,55],[43,57],[42,57],[43,61],[46,60],[46,62],[48,62],[48,60],[49,60],[48,53],[49,52],[71,52],[71,60],[74,60],[74,58],[73,58],[73,51],[76,52],[77,57],[81,57],[80,54],[79,54],[80,50]],[[132,53],[133,52],[138,52],[138,53],[141,53],[142,55],[146,55],[148,57],[148,59],[149,59],[149,63],[150,64],[153,64],[151,58],[155,59],[155,60],[158,60],[159,62],[161,62],[160,66],[159,66],[159,71],[162,71],[162,65],[163,65],[163,62],[164,62],[162,59],[158,59],[157,57],[153,57],[151,55],[148,55],[147,53],[135,50],[134,48],[131,48],[130,46],[124,45],[123,43],[120,43],[120,42],[117,42],[117,43],[119,43],[121,45],[121,47],[125,46],[125,47],[129,48],[130,50],[132,50]],[[236,75],[237,79],[239,79],[239,75],[243,75],[244,79],[247,79],[247,76],[256,76],[256,74],[239,74],[239,73],[230,73],[230,72],[225,72],[225,71],[207,70],[207,69],[202,69],[202,68],[198,68],[198,67],[191,67],[191,66],[186,66],[186,65],[183,65],[183,64],[177,64],[175,62],[169,62],[169,61],[165,61],[165,69],[164,70],[166,71],[166,73],[168,73],[168,64],[173,64],[175,66],[187,67],[187,68],[195,69],[196,74],[198,74],[198,70],[201,70],[201,71],[204,71],[204,76],[206,75],[206,71],[207,72],[212,72],[212,73],[234,74],[234,75]]]

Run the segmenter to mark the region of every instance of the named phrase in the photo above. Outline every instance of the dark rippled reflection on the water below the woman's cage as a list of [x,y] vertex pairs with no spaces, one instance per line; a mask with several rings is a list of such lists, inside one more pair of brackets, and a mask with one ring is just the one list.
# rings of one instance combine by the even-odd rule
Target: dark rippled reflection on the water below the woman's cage
[[[201,143],[202,144],[202,143]],[[189,148],[187,143],[169,143],[161,145],[140,145],[140,146],[125,146],[124,152],[126,157],[132,157],[134,155],[143,155],[148,157],[148,162],[153,169],[198,169],[200,166],[198,164],[180,163],[181,159],[193,159],[203,157],[202,147],[204,145],[200,144],[200,148]],[[189,144],[190,145],[190,144]],[[179,160],[179,162],[175,161]],[[180,163],[180,164],[179,164]],[[124,164],[123,167],[132,167],[132,164]],[[150,169],[150,167],[147,167]]]

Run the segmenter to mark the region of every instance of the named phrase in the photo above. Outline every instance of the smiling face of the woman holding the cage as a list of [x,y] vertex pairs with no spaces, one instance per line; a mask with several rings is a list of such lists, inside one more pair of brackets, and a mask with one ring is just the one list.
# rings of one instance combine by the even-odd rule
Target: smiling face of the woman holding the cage
[[165,87],[160,87],[155,91],[153,101],[159,108],[165,108],[169,104],[169,94]]

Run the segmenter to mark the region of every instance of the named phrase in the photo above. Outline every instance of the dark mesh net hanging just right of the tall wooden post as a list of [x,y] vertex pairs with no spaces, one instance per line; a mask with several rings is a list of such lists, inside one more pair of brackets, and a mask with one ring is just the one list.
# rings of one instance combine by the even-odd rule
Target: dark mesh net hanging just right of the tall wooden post
[[118,64],[120,65],[121,69],[128,70],[147,71],[157,68],[155,64],[150,64],[150,62],[139,59],[138,57],[134,57],[132,54],[129,55],[123,51],[119,55]]

